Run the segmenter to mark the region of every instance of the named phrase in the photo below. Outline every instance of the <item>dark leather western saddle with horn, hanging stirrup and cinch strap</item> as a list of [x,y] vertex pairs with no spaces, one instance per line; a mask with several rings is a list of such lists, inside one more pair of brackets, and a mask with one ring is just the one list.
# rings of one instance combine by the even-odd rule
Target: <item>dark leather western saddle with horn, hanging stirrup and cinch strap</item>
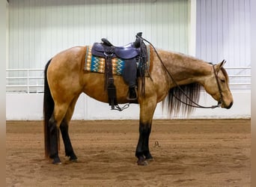
[[[129,74],[124,81],[129,85],[129,92],[127,93],[127,100],[136,102],[138,98],[137,93],[137,63],[147,62],[147,49],[141,39],[142,33],[136,34],[135,42],[129,43],[126,46],[114,46],[106,38],[102,38],[102,43],[94,43],[91,48],[92,55],[105,58],[105,89],[107,88],[109,96],[109,105],[112,109],[118,106],[116,89],[114,85],[114,78],[112,75],[112,58],[124,59],[125,68]],[[135,71],[134,71],[135,70]],[[118,109],[119,110],[119,109]]]

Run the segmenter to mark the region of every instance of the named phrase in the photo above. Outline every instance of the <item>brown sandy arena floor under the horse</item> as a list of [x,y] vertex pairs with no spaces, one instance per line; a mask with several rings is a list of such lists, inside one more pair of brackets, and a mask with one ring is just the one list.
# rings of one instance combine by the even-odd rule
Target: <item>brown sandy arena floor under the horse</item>
[[250,120],[154,120],[136,165],[137,120],[72,121],[79,162],[44,159],[43,122],[7,121],[7,186],[250,186]]

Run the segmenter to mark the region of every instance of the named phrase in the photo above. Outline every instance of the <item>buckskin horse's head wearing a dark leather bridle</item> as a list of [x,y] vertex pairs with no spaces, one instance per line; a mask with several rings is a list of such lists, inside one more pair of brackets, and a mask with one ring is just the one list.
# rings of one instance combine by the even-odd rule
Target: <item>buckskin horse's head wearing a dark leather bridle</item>
[[210,76],[205,80],[204,89],[218,101],[222,108],[231,108],[233,96],[228,86],[228,73],[223,68],[225,61],[213,65]]

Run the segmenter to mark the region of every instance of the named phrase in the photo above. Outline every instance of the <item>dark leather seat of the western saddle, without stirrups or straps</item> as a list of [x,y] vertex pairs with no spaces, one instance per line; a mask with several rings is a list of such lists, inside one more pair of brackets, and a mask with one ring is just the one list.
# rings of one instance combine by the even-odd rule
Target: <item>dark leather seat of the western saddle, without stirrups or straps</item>
[[102,39],[103,43],[94,43],[91,53],[95,56],[106,57],[112,55],[112,58],[122,59],[135,58],[140,53],[140,48],[135,48],[134,43],[128,43],[126,46],[113,46],[106,38]]

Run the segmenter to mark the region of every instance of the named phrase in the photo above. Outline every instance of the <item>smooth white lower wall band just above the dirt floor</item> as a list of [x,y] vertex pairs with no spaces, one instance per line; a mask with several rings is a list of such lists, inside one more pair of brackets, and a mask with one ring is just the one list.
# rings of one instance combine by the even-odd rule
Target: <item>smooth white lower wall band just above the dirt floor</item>
[[[201,93],[201,105],[216,105],[216,101],[207,93]],[[251,117],[250,91],[234,91],[234,105],[231,109],[197,108],[189,118],[249,118]],[[73,120],[138,120],[139,105],[132,104],[124,111],[112,111],[107,103],[82,94],[77,102]],[[156,108],[154,119],[166,119],[167,114],[162,111],[161,104]],[[175,116],[172,118],[186,118]],[[42,120],[43,119],[43,94],[7,94],[6,95],[7,120]]]

